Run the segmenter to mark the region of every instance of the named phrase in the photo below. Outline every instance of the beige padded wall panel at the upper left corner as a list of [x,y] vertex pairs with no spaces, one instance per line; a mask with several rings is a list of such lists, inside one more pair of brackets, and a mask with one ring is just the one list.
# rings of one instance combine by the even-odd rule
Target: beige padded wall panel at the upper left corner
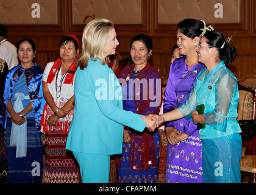
[[1,0],[2,24],[58,24],[58,0]]

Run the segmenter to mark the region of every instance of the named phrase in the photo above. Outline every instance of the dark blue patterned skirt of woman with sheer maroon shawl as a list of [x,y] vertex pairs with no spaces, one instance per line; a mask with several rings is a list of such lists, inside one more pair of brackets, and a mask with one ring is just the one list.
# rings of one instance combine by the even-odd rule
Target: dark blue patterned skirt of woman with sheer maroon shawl
[[123,157],[121,165],[118,167],[119,183],[157,183],[158,182],[158,160],[160,140],[158,132],[154,134],[155,141],[155,157],[157,158],[157,166],[151,167],[146,171],[134,171],[129,165],[130,143],[123,143]]

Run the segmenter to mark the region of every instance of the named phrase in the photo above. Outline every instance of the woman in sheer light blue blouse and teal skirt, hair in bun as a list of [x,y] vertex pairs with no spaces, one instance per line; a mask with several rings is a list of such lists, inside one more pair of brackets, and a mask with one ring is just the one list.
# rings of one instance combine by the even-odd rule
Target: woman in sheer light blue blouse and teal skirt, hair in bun
[[[207,69],[201,71],[186,104],[172,112],[154,116],[158,122],[177,118],[205,124],[199,130],[202,140],[203,182],[240,183],[241,128],[236,120],[238,85],[236,77],[226,67],[235,60],[237,51],[218,31],[206,32],[197,49],[198,62]],[[204,114],[196,111],[205,105]],[[177,141],[178,142],[178,141]]]

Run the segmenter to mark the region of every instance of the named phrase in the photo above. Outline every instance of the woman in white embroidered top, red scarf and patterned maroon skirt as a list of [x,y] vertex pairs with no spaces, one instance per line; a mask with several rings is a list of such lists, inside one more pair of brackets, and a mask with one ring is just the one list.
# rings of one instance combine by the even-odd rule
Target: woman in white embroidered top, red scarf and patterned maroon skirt
[[[80,182],[79,168],[73,154],[66,151],[66,138],[74,114],[74,75],[79,55],[79,41],[68,35],[60,41],[60,58],[46,65],[43,94],[46,105],[41,120],[45,133],[46,183]],[[57,152],[57,155],[56,155]]]

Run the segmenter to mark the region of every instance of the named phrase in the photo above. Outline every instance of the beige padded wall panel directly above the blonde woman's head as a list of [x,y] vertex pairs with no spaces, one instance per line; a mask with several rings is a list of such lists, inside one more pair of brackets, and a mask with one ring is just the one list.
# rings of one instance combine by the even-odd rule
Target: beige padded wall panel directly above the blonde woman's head
[[141,24],[141,0],[73,0],[73,24],[83,24],[87,15],[107,18],[114,24]]

